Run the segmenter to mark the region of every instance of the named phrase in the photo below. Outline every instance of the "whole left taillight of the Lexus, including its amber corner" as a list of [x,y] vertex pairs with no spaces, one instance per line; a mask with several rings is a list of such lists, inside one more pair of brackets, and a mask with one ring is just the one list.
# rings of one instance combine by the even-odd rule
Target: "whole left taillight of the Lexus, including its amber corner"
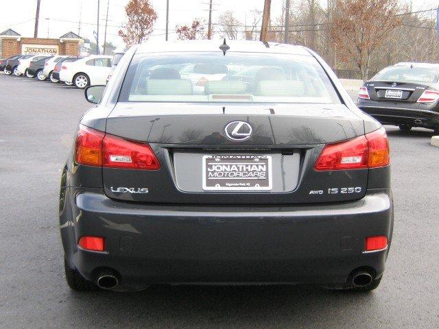
[[80,125],[75,161],[95,167],[158,170],[160,162],[147,143],[128,141]]

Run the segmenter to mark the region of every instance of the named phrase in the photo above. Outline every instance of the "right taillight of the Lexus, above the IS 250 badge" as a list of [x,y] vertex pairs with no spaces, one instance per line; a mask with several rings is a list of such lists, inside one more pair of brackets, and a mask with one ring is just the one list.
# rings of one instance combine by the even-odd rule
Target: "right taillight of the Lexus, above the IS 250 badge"
[[365,169],[390,164],[389,143],[385,129],[349,141],[327,144],[318,160],[317,171]]

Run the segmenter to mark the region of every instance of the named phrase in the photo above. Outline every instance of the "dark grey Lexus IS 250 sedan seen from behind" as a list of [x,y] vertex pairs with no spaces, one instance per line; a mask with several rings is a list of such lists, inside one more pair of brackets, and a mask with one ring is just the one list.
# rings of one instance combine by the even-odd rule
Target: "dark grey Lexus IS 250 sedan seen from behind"
[[[250,68],[252,81],[230,78]],[[388,138],[313,51],[146,43],[86,99],[97,105],[60,188],[72,289],[378,287],[393,226]]]

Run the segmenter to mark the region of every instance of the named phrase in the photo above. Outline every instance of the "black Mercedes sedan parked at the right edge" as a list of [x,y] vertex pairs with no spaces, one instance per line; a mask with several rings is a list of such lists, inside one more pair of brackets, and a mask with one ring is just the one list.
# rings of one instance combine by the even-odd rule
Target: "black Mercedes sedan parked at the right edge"
[[439,134],[439,64],[399,63],[364,83],[357,105],[401,130],[424,127]]

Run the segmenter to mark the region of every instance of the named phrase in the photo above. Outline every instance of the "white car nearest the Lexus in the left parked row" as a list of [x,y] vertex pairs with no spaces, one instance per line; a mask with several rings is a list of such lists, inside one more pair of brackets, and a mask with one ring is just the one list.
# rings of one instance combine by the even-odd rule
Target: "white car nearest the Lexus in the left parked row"
[[76,88],[106,84],[111,71],[112,56],[93,55],[75,62],[62,63],[60,80],[73,82]]

